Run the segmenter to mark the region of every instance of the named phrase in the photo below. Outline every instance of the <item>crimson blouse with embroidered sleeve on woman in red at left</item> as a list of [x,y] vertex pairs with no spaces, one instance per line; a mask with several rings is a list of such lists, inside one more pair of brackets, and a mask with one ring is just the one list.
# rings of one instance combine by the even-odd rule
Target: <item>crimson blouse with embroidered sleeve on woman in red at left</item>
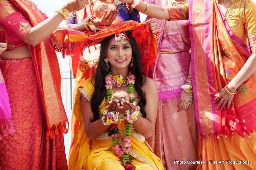
[[[28,21],[28,15],[25,12],[19,11],[9,0],[0,0],[0,2],[0,42],[15,45],[15,47],[7,47],[7,50],[27,46],[24,43],[24,39],[32,28]],[[45,19],[48,18],[30,0],[23,2],[29,5],[30,8],[38,10]]]

